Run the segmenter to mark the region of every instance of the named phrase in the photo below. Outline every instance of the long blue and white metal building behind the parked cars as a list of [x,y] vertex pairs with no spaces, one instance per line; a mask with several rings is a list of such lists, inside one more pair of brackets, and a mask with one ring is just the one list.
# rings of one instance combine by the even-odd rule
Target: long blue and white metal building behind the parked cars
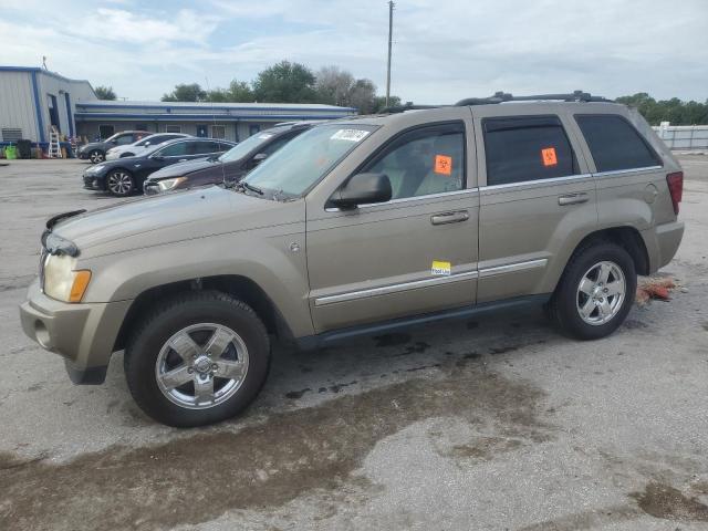
[[102,101],[85,80],[39,67],[0,66],[0,145],[25,138],[46,148],[52,126],[62,137],[88,142],[126,129],[239,142],[279,122],[355,113],[320,104]]

